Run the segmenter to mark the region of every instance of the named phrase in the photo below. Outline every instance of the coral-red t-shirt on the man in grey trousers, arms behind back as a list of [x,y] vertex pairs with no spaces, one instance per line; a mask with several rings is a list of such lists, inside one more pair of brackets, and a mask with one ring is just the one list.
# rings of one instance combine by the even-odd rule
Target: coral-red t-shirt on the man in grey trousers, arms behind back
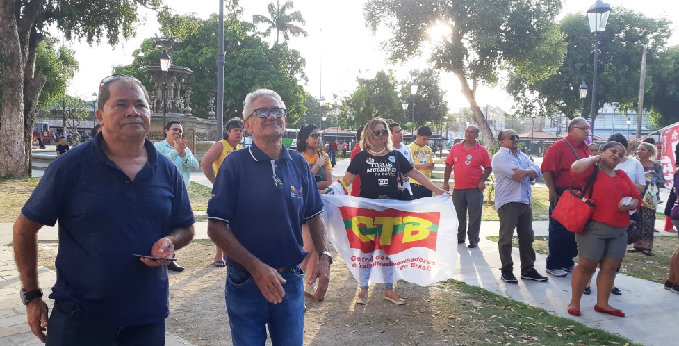
[[450,148],[445,164],[451,165],[455,174],[453,189],[478,188],[484,170],[492,165],[491,156],[484,146],[476,143],[467,151],[464,141]]

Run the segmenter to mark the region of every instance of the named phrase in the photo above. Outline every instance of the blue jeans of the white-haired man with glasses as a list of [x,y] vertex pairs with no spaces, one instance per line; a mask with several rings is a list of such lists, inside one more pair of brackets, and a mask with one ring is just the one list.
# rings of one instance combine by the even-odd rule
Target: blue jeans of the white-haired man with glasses
[[227,267],[225,297],[235,346],[264,345],[266,327],[273,345],[302,345],[304,340],[304,272],[299,266],[281,273],[283,302],[272,304],[262,295],[252,275]]

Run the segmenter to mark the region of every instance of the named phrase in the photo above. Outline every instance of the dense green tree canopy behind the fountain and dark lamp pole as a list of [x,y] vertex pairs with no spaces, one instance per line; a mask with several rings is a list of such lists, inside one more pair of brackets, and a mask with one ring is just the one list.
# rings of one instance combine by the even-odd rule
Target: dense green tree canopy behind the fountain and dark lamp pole
[[[190,18],[191,20],[187,20]],[[193,14],[176,15],[169,27],[181,29],[181,23],[197,24],[195,33],[188,32],[181,42],[172,47],[172,64],[193,69],[186,78],[193,86],[193,115],[208,117],[208,96],[204,90],[217,86],[218,16],[196,19]],[[172,22],[172,20],[170,22]],[[166,34],[163,32],[163,34]],[[169,32],[168,32],[169,34]],[[130,65],[117,67],[116,71],[137,76],[152,90],[150,77],[142,72],[144,65],[158,65],[160,51],[152,38],[144,40],[134,52]],[[243,100],[248,92],[269,88],[278,92],[286,102],[290,122],[295,122],[306,111],[303,106],[306,92],[298,82],[306,81],[305,61],[298,51],[289,49],[287,44],[274,44],[269,48],[266,42],[254,35],[254,25],[238,22],[231,17],[224,26],[224,119],[243,117]]]

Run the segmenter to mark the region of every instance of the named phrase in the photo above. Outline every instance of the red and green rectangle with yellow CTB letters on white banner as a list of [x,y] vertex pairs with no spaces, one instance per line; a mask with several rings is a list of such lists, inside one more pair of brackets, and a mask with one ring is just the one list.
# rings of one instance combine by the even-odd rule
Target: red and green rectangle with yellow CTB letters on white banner
[[349,244],[363,253],[377,249],[386,254],[398,254],[412,247],[427,247],[436,251],[438,212],[416,213],[385,209],[340,207]]

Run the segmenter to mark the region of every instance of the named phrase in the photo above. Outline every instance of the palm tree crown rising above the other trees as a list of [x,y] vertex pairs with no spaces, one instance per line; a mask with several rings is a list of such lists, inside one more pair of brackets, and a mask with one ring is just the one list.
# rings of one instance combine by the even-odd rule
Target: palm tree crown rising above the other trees
[[283,40],[290,40],[290,36],[302,35],[306,38],[308,35],[306,31],[293,24],[294,22],[299,22],[302,25],[306,24],[304,18],[302,18],[302,13],[300,11],[295,11],[293,13],[287,13],[288,10],[292,10],[294,7],[293,1],[286,1],[286,3],[281,6],[281,1],[276,0],[276,5],[274,3],[268,4],[266,8],[269,10],[269,17],[263,15],[253,15],[252,22],[254,24],[268,24],[268,28],[264,31],[265,36],[269,36],[273,29],[276,29],[276,43],[278,44],[279,35],[283,33]]

